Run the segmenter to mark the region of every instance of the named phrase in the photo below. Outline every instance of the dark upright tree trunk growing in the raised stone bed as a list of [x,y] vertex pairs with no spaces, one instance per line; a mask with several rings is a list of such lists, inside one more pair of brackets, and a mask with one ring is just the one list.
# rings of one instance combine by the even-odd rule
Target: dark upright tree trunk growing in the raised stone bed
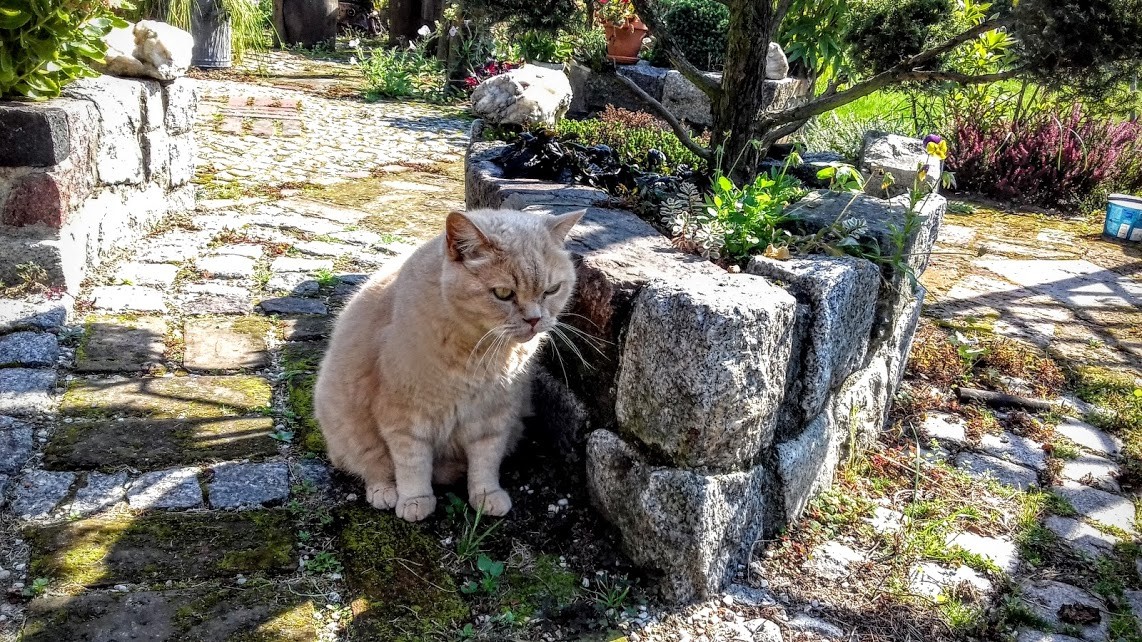
[[753,176],[765,155],[750,139],[763,105],[772,16],[772,2],[730,0],[730,46],[722,73],[722,101],[713,105],[711,143],[715,150],[722,147],[722,169],[738,177]]

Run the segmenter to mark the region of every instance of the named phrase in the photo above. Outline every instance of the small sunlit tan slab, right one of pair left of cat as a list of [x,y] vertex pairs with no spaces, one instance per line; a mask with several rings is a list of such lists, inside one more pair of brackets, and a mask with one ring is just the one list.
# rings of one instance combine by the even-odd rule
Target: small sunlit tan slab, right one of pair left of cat
[[191,370],[264,368],[270,362],[266,335],[273,324],[266,319],[187,319],[183,366]]

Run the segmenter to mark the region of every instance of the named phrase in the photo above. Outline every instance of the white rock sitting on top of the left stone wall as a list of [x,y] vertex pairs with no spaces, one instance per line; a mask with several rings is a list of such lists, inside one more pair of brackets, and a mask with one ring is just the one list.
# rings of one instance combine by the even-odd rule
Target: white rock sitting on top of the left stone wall
[[104,41],[107,54],[97,69],[108,75],[175,80],[191,66],[194,38],[156,21],[139,21],[113,29]]

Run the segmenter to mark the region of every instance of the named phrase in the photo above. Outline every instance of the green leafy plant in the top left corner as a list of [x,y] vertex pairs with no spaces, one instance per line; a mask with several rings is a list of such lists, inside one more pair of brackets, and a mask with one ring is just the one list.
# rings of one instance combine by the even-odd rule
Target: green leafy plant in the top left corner
[[0,96],[43,101],[98,75],[103,38],[127,23],[103,0],[0,0]]

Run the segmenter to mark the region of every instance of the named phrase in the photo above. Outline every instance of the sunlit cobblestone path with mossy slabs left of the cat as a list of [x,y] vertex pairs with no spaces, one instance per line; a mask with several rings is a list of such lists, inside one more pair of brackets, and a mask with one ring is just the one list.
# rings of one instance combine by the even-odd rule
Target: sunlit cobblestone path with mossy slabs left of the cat
[[331,313],[463,208],[467,122],[201,90],[203,194],[292,187],[201,200],[75,302],[0,299],[0,640],[336,639],[378,597],[331,554],[354,487],[314,457],[314,372]]

